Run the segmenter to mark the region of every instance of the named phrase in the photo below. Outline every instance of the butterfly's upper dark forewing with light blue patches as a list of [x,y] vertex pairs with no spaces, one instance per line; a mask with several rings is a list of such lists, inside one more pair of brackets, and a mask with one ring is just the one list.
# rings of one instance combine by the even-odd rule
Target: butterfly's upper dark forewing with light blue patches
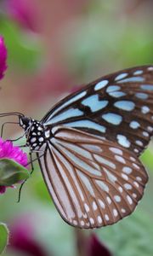
[[139,155],[153,134],[153,66],[134,67],[88,84],[42,119],[105,137]]

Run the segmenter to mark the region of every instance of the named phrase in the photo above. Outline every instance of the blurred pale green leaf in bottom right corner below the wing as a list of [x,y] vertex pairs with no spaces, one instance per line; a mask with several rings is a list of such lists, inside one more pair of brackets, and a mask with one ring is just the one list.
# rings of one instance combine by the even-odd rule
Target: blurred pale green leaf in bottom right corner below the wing
[[102,228],[97,233],[115,256],[152,255],[152,216],[142,209],[137,209],[130,217]]

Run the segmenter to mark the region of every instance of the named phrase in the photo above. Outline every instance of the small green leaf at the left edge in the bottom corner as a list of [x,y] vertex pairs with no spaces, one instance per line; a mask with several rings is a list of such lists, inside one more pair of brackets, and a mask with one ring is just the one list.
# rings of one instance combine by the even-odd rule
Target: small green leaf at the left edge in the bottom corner
[[0,223],[0,254],[3,253],[5,247],[8,245],[8,234],[6,224]]

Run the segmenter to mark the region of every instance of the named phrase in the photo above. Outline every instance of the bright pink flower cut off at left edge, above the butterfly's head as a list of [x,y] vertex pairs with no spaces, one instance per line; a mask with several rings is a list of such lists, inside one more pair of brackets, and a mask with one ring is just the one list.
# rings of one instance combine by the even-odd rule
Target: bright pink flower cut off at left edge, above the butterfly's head
[[0,79],[3,79],[3,73],[7,69],[7,49],[3,41],[3,37],[0,35]]

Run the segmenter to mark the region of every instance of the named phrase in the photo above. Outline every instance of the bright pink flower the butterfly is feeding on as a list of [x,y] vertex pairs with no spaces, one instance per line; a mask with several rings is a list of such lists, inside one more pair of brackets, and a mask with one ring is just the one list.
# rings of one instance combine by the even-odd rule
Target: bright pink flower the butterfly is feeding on
[[[21,166],[27,166],[27,155],[19,147],[14,147],[10,141],[3,141],[0,137],[0,159],[8,158],[16,161]],[[5,192],[7,187],[0,186],[0,194]]]

